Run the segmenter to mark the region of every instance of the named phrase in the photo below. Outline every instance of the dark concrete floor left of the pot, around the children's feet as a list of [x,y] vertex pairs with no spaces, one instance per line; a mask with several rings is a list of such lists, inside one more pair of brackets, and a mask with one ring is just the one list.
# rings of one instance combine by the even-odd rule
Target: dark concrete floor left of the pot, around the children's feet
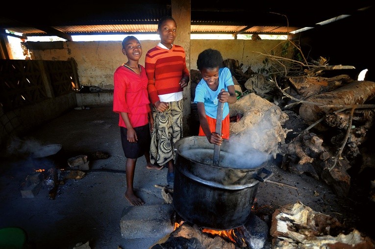
[[[30,244],[37,249],[70,249],[87,241],[91,248],[98,249],[117,249],[118,246],[144,249],[165,236],[160,232],[153,233],[153,237],[122,237],[120,221],[124,209],[130,205],[124,198],[126,158],[117,124],[118,115],[112,112],[112,107],[72,110],[27,137],[13,140],[8,151],[1,153],[0,227],[24,228]],[[103,171],[87,172],[81,179],[66,180],[59,186],[55,199],[49,198],[47,186],[34,198],[22,198],[20,190],[25,177],[38,168],[27,156],[28,152],[50,144],[62,145],[67,159],[98,150],[110,157],[90,161],[91,170]],[[165,203],[161,190],[154,187],[155,184],[167,185],[167,169],[147,170],[145,165],[145,158],[139,158],[134,177],[138,195],[145,205],[171,206]]]

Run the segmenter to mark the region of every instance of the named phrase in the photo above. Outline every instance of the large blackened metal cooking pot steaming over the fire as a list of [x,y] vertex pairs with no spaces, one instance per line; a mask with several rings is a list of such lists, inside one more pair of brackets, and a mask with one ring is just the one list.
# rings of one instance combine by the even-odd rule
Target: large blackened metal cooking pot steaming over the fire
[[244,151],[246,145],[225,140],[219,166],[213,166],[214,145],[205,136],[182,138],[174,147],[173,204],[177,214],[184,221],[215,230],[244,225],[258,183],[272,176],[263,168],[268,156],[249,148],[239,158],[235,152]]

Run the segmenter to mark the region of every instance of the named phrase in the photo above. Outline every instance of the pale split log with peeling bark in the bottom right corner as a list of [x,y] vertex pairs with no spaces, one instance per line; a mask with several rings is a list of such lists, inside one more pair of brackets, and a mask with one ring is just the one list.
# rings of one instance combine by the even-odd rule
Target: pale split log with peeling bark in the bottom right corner
[[336,219],[315,212],[301,202],[275,210],[270,234],[274,248],[374,248],[374,241]]

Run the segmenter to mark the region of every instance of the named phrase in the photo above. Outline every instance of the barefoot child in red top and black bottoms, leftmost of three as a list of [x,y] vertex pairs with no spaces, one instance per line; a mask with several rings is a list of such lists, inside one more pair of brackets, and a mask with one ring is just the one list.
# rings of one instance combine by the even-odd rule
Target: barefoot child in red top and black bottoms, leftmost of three
[[[158,169],[150,162],[150,130],[153,127],[150,101],[147,93],[146,70],[138,64],[142,46],[134,36],[122,42],[128,61],[114,73],[113,111],[119,113],[121,143],[126,157],[125,198],[133,206],[143,205],[133,189],[137,158],[145,155],[148,169]],[[150,122],[150,125],[149,125]]]

